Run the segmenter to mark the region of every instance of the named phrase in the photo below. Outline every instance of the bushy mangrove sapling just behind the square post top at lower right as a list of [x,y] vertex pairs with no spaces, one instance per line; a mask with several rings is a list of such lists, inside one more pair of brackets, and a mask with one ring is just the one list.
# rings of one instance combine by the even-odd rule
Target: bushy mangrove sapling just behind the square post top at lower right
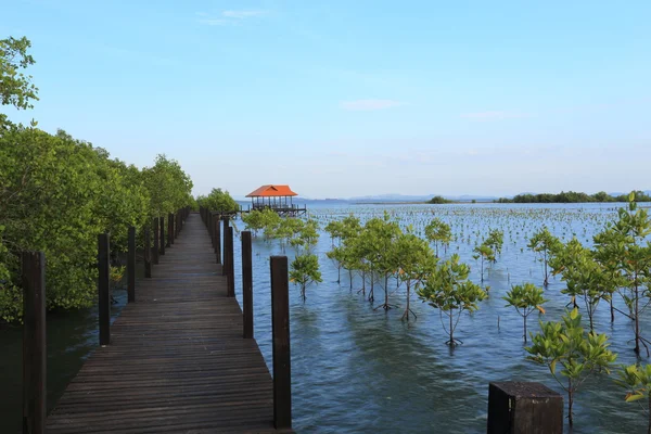
[[[610,373],[609,367],[617,358],[608,347],[608,336],[593,332],[586,333],[580,327],[580,315],[574,308],[565,312],[562,322],[540,321],[540,332],[531,334],[532,346],[524,349],[527,356],[538,365],[544,365],[559,385],[567,393],[567,420],[573,426],[574,398],[580,385],[595,372]],[[562,367],[561,375],[557,375],[557,365]]]

